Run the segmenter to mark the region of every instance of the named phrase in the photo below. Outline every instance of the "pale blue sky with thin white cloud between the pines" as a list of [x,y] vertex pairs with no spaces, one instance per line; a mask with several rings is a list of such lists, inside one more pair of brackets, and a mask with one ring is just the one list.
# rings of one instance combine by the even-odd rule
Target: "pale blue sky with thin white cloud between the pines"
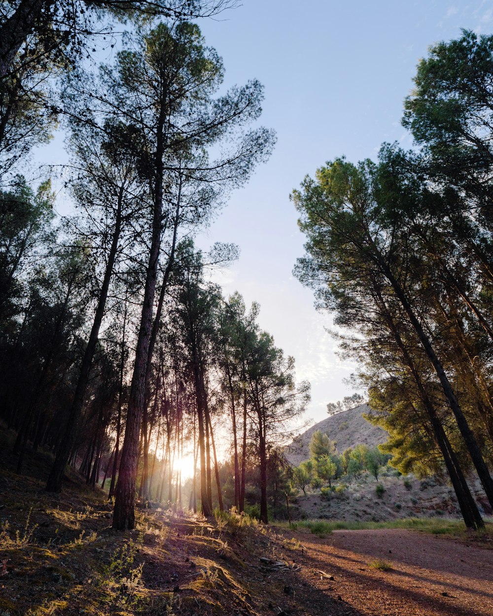
[[[275,129],[277,145],[197,244],[239,246],[240,258],[217,282],[225,294],[240,291],[247,305],[259,302],[261,328],[295,357],[297,377],[311,381],[305,419],[314,423],[327,416],[328,402],[355,391],[344,379],[356,366],[338,357],[326,331],[330,315],[316,312],[312,292],[293,277],[304,239],[290,192],[336,156],[375,158],[383,142],[396,140],[412,147],[401,116],[418,61],[431,44],[458,38],[461,28],[493,33],[493,5],[243,0],[200,20],[200,28],[224,60],[225,87],[253,78],[264,84],[261,124]],[[37,156],[60,162],[60,137]]]

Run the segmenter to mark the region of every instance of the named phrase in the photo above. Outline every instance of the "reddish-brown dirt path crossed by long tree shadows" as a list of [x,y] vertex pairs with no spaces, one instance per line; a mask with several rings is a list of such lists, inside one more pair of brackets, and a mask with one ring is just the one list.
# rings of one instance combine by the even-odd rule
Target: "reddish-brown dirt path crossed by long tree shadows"
[[[365,616],[493,615],[493,550],[395,529],[284,534],[304,546],[301,575],[323,593],[313,614],[328,614],[326,596],[342,601],[341,612]],[[375,559],[392,569],[370,567]]]

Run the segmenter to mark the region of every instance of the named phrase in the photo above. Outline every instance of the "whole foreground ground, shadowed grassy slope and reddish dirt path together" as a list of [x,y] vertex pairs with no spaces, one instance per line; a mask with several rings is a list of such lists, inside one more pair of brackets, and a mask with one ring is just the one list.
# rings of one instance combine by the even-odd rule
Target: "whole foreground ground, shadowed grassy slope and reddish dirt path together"
[[118,533],[103,492],[70,472],[60,495],[47,493],[46,454],[18,476],[3,451],[0,616],[493,613],[491,533],[474,545],[395,529],[317,538],[158,509]]

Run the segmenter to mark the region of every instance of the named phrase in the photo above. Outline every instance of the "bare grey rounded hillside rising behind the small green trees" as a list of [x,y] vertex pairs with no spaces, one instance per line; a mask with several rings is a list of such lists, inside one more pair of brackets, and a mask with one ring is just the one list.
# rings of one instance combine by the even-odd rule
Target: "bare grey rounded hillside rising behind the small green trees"
[[328,434],[330,440],[334,440],[338,453],[342,453],[348,447],[355,445],[368,445],[374,447],[380,443],[385,443],[388,434],[379,426],[373,426],[369,421],[364,419],[363,413],[368,413],[370,407],[367,404],[362,404],[356,408],[350,408],[348,411],[341,411],[322,419],[319,423],[306,432],[297,436],[293,442],[288,445],[284,454],[290,464],[298,466],[303,460],[308,460],[310,450],[308,448],[312,434],[317,430]]

